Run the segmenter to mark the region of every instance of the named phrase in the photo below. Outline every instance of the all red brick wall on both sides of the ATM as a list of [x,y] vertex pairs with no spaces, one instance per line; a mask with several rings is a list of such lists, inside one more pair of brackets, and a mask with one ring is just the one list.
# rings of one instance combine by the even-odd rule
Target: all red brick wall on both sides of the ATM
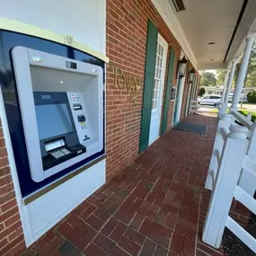
[[[144,84],[147,20],[157,26],[167,41],[168,56],[163,89],[165,99],[171,47],[175,50],[172,85],[177,84],[176,67],[181,46],[174,39],[150,0],[107,0],[107,56],[127,75]],[[126,89],[114,88],[114,73],[107,67],[107,178],[126,167],[138,155],[143,88],[136,102],[127,103]],[[173,101],[170,102],[167,129],[172,127]],[[163,115],[163,113],[162,113]],[[163,117],[163,116],[162,116]],[[13,190],[9,163],[0,127],[0,255],[13,256],[24,248],[22,224]]]

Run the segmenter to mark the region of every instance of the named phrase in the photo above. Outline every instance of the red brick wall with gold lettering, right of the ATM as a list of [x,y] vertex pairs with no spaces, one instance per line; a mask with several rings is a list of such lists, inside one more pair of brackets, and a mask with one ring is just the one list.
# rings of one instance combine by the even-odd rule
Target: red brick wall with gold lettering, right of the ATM
[[[107,56],[124,73],[141,78],[145,72],[147,21],[151,19],[163,39],[175,49],[175,67],[181,47],[174,39],[150,0],[107,0]],[[170,47],[168,49],[168,58]],[[168,70],[169,66],[166,66]],[[174,69],[174,72],[176,70]],[[165,73],[165,82],[168,73]],[[176,78],[173,76],[172,83]],[[166,83],[165,83],[166,84]],[[165,85],[164,84],[164,85]],[[165,86],[163,99],[165,96]],[[125,89],[114,88],[114,73],[107,69],[107,175],[108,179],[131,163],[138,154],[143,88],[137,101],[126,103]],[[173,102],[170,102],[168,128],[172,125]]]

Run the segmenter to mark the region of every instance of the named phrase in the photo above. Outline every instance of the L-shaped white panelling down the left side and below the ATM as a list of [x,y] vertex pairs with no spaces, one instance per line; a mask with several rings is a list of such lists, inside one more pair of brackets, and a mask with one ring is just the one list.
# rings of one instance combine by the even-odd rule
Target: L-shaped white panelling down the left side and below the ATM
[[50,228],[63,219],[75,207],[90,197],[106,182],[106,160],[94,164],[84,172],[50,190],[47,194],[25,205],[19,185],[16,165],[13,156],[13,146],[4,110],[3,94],[0,87],[0,119],[2,121],[5,146],[8,153],[10,170],[26,246],[36,242],[40,236],[46,234]]

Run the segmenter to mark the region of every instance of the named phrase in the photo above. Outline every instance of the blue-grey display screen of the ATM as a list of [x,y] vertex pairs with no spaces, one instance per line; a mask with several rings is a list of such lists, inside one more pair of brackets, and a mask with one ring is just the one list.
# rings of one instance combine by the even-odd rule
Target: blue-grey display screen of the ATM
[[40,140],[73,131],[65,103],[36,105],[36,116]]

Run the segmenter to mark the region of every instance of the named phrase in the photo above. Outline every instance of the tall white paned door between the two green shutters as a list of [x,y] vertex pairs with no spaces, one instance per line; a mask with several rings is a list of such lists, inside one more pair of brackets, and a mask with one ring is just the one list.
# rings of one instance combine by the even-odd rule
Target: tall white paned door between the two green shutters
[[160,122],[163,105],[163,84],[165,76],[167,49],[167,42],[163,40],[163,37],[160,34],[158,34],[148,145],[151,145],[160,136]]

